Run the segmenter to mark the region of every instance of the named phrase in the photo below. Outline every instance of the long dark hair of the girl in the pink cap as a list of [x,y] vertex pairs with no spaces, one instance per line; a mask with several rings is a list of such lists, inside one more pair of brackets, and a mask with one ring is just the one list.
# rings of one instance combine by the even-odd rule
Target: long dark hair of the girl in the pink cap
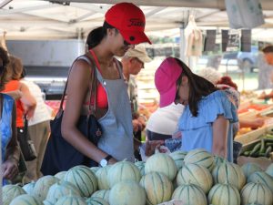
[[181,76],[177,79],[177,85],[181,84],[181,78],[183,76],[187,76],[188,78],[188,106],[191,114],[194,117],[198,115],[198,103],[202,97],[206,97],[207,95],[215,92],[217,87],[209,82],[204,77],[199,77],[193,72],[191,72],[190,68],[187,67],[185,63],[176,58],[177,64],[182,68]]

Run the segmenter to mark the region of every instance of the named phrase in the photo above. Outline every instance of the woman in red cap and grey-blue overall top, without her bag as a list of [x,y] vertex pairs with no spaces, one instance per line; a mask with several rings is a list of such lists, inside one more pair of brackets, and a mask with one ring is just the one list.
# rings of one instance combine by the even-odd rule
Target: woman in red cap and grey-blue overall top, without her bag
[[[145,15],[136,5],[113,5],[106,12],[104,25],[87,36],[86,55],[77,59],[71,69],[62,134],[78,151],[100,166],[123,159],[134,161],[131,108],[122,67],[115,56],[124,56],[128,49],[139,43],[150,43],[144,33],[145,24]],[[88,110],[92,69],[96,69],[97,78],[96,118],[103,129],[97,146],[76,128],[79,116]]]

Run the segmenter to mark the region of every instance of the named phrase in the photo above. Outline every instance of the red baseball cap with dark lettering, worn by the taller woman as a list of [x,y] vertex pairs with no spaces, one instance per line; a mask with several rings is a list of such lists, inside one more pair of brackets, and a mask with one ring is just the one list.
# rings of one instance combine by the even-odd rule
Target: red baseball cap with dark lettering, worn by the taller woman
[[144,33],[145,15],[136,5],[132,3],[113,5],[106,12],[105,17],[106,23],[116,27],[129,44],[136,45],[143,42],[152,44]]

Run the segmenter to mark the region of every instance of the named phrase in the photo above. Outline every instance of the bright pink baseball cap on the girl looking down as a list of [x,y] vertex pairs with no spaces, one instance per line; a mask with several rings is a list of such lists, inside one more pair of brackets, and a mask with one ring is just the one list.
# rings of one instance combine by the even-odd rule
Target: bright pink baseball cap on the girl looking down
[[177,79],[182,73],[182,67],[174,57],[167,57],[157,68],[155,84],[160,94],[159,106],[166,107],[173,103],[177,93]]

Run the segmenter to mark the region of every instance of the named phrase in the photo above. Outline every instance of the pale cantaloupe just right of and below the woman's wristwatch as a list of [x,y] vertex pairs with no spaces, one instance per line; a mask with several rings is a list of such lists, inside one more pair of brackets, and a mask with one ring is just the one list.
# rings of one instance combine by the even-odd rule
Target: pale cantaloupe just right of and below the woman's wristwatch
[[130,179],[139,182],[141,174],[134,163],[130,161],[118,161],[108,170],[107,179],[110,188],[112,188],[122,180]]

